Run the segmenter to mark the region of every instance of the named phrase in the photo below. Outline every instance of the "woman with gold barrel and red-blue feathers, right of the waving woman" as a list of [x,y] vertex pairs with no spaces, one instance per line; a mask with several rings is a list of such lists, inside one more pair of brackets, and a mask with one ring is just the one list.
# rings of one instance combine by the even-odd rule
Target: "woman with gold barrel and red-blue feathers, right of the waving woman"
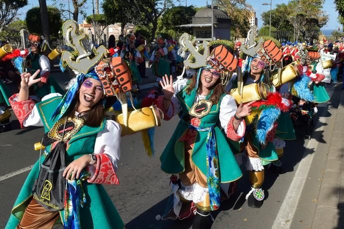
[[[247,131],[242,149],[245,149],[248,158],[246,169],[251,183],[251,191],[246,195],[248,206],[260,208],[265,198],[262,189],[264,166],[277,161],[279,157],[276,148],[283,149],[285,145],[283,140],[275,136],[278,119],[284,122],[281,118],[289,118],[282,117],[281,113],[287,112],[291,107],[291,101],[275,92],[275,87],[299,76],[300,73],[296,70],[301,66],[288,65],[287,71],[282,71],[283,53],[275,43],[277,41],[265,37],[267,40],[260,38],[256,42],[255,30],[254,26],[250,28],[248,48],[241,46],[241,50],[248,56],[242,69],[243,75],[240,77],[233,75],[226,90],[237,103],[243,100],[245,102],[257,100],[251,104],[251,115],[245,118]],[[278,70],[273,73],[275,68]],[[286,74],[287,72],[290,74]],[[307,84],[308,81],[303,86],[307,87]]]

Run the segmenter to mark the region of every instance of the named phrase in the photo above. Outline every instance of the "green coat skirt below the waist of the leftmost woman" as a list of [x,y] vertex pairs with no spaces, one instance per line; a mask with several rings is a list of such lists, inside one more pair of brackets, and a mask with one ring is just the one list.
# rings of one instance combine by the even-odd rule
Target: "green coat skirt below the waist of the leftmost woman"
[[[16,228],[25,212],[26,206],[30,202],[32,197],[32,186],[39,173],[38,163],[37,161],[28,174],[14,203],[5,229]],[[81,228],[123,229],[124,223],[104,187],[102,185],[84,182],[83,188],[87,202],[83,208],[80,208]],[[62,219],[63,210],[60,211],[60,221],[56,222],[56,224],[61,224]]]

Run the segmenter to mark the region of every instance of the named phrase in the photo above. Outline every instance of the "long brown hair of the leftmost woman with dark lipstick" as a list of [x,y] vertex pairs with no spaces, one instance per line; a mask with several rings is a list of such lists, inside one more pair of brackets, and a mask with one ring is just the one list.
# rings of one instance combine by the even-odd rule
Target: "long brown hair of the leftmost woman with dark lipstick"
[[[79,93],[75,95],[75,105],[71,112],[69,112],[69,116],[74,116],[75,112],[77,112],[80,100],[79,100]],[[103,107],[103,99],[100,99],[91,109],[81,112],[79,117],[84,120],[84,125],[90,127],[99,127],[100,124],[103,122],[105,117],[104,107]]]

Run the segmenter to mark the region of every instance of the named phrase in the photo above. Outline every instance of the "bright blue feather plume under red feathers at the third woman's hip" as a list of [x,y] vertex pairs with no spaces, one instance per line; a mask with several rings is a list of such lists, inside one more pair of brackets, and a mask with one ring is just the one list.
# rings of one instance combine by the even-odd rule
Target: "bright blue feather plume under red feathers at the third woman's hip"
[[266,108],[261,112],[256,128],[256,137],[261,144],[265,143],[268,132],[273,128],[280,114],[278,108]]

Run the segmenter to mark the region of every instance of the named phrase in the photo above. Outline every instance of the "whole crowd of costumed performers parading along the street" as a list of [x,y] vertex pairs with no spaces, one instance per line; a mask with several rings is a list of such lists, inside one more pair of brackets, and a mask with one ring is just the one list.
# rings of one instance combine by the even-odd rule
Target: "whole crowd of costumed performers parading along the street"
[[[235,192],[243,172],[249,178],[248,206],[260,208],[265,170],[281,171],[285,141],[296,138],[293,123],[300,124],[303,115],[312,116],[318,103],[330,99],[322,80],[324,69],[336,62],[321,59],[321,42],[317,49],[288,46],[256,37],[252,27],[247,44],[217,40],[195,47],[195,40],[182,34],[180,50],[188,53],[184,67],[196,73],[174,82],[163,57],[176,52],[175,46],[158,38],[150,64],[161,77],[163,93],[128,112],[127,99],[134,104],[131,91],[145,77],[140,73],[147,55],[142,39],[131,33],[115,45],[111,38],[107,49],[92,45],[75,21],[65,22],[63,32],[74,51],[49,47],[45,56],[48,45],[37,34],[29,35],[26,57],[6,44],[0,49],[1,61],[11,61],[13,74],[20,77],[19,93],[9,98],[0,84],[3,101],[22,128],[44,127],[35,144],[41,156],[22,185],[6,229],[55,224],[124,228],[102,186],[119,184],[121,136],[141,131],[147,137],[143,151],[152,153],[152,129],[175,115],[180,121],[160,156],[161,169],[172,175],[172,208],[156,219],[193,217],[193,229],[210,228],[211,212]],[[49,77],[47,57],[58,55],[61,70],[68,67],[76,74],[66,92]],[[115,100],[122,113],[111,116],[107,111]]]

